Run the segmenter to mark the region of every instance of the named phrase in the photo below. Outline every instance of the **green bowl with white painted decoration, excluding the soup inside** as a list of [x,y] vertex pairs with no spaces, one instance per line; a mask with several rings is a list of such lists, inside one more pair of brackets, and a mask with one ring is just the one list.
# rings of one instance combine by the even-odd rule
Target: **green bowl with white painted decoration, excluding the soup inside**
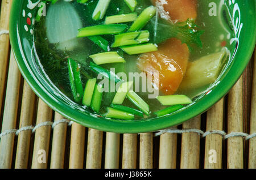
[[33,24],[37,13],[36,7],[39,6],[38,0],[13,0],[10,18],[10,41],[16,62],[24,79],[30,84],[36,95],[64,117],[83,126],[101,131],[119,133],[156,131],[180,125],[188,119],[207,111],[228,93],[240,78],[250,60],[256,39],[255,1],[223,0],[220,2],[221,5],[218,8],[222,8],[226,12],[226,17],[235,22],[233,23],[234,36],[229,41],[230,45],[235,48],[231,52],[230,61],[225,67],[225,71],[216,83],[210,86],[209,91],[198,97],[193,104],[160,118],[138,121],[105,119],[86,112],[85,109],[80,108],[60,93],[44,74],[39,57],[35,53]]

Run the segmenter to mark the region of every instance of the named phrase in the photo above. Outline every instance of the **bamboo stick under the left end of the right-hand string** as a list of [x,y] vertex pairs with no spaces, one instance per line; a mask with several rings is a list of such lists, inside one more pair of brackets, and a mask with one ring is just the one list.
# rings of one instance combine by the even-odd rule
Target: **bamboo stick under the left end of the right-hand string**
[[159,169],[175,169],[177,153],[177,134],[160,135]]

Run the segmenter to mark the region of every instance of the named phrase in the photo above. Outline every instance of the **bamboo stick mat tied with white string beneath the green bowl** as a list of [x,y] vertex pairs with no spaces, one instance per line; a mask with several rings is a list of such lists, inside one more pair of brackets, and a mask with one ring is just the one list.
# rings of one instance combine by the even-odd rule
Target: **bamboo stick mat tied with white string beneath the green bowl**
[[53,112],[23,80],[3,31],[10,5],[0,16],[0,168],[256,168],[255,52],[207,113],[158,134],[101,132]]

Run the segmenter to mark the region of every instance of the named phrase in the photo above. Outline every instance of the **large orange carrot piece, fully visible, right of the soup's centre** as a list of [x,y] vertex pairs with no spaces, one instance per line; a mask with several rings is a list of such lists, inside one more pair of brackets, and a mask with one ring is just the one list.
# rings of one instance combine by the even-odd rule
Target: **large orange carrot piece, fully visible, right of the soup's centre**
[[[171,38],[159,47],[157,52],[142,54],[138,68],[147,75],[158,73],[159,82],[153,82],[166,95],[177,91],[187,69],[189,51],[180,40]],[[156,78],[154,78],[156,80]]]

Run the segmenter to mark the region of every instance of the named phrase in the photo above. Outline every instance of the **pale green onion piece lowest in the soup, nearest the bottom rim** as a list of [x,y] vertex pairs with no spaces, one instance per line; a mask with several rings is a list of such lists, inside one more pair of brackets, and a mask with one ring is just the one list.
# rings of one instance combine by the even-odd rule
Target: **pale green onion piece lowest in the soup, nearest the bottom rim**
[[121,110],[117,110],[114,108],[107,108],[107,111],[103,116],[107,118],[114,118],[114,119],[125,119],[125,120],[133,120],[134,115],[123,112]]

